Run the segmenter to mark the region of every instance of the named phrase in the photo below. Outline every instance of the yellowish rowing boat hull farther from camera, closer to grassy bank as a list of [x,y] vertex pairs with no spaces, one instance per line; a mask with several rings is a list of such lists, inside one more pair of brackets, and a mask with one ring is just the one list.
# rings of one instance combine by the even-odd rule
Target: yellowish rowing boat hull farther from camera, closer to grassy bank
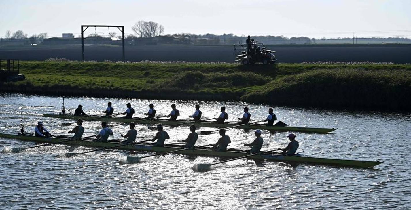
[[[102,116],[98,115],[88,115],[88,116],[74,116],[74,115],[58,115],[58,114],[43,114],[45,117],[53,117],[53,118],[60,118],[60,119],[79,119],[81,118],[82,120],[94,120],[95,118],[99,118]],[[141,120],[141,121],[140,121]],[[169,120],[164,120],[164,119],[155,119],[155,120],[150,120],[150,119],[144,119],[144,118],[133,118],[133,119],[127,119],[127,118],[122,118],[122,117],[104,117],[104,118],[99,118],[95,119],[95,121],[107,121],[107,122],[122,122],[122,123],[131,123],[135,121],[139,121],[136,123],[139,124],[158,124],[162,123],[163,125],[176,125],[180,123],[187,123],[189,121],[187,120],[178,120],[178,121],[169,121]],[[208,128],[228,128],[231,126],[236,126],[238,124],[236,123],[214,123],[214,122],[193,122],[193,123],[187,123],[185,126],[189,126],[191,124],[194,124],[197,127],[208,127]],[[332,132],[334,130],[337,130],[337,128],[309,128],[309,127],[294,127],[294,126],[266,126],[262,124],[251,124],[251,125],[242,125],[236,127],[238,129],[254,129],[254,130],[270,130],[270,131],[283,131],[283,132],[305,132],[305,133],[321,133],[321,134],[326,134],[329,132]]]

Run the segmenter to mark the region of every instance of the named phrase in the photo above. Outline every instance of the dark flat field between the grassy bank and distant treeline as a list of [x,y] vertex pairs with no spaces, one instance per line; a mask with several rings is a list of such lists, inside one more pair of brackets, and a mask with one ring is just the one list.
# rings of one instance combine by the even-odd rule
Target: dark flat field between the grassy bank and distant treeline
[[[269,46],[277,51],[278,62],[393,62],[411,63],[411,46]],[[233,62],[232,46],[126,46],[126,60]],[[81,60],[81,46],[33,46],[16,49],[0,48],[0,58],[45,60],[50,57]],[[85,46],[85,59],[96,61],[122,60],[121,46]]]

